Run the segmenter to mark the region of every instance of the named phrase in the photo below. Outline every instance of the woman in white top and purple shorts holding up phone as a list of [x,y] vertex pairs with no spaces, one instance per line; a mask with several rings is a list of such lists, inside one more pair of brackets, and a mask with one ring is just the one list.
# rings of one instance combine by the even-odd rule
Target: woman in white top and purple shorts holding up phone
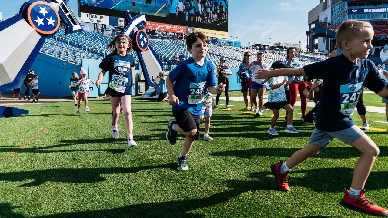
[[[259,71],[259,69],[269,69],[268,65],[263,62],[264,54],[262,52],[257,53],[257,61],[251,62],[251,64],[246,67],[247,70],[252,70],[252,75],[255,75],[256,72]],[[255,105],[255,109],[253,110],[254,113],[257,113],[260,108],[263,107],[263,97],[265,90],[267,90],[267,83],[261,84],[264,81],[264,79],[255,79],[255,77],[252,78],[252,87],[251,87],[251,102]],[[259,95],[259,105],[257,105],[256,96]]]

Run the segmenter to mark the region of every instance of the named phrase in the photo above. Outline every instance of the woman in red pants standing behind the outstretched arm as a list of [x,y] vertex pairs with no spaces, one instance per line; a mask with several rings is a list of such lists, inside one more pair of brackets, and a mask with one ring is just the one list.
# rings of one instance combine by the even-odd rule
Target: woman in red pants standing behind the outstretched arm
[[[290,67],[297,67],[301,68],[303,67],[302,64],[300,63],[300,60],[298,57],[296,57],[296,54],[298,52],[295,50],[295,48],[288,48],[287,49],[287,60],[284,61],[284,63],[287,66]],[[302,110],[302,117],[300,120],[305,120],[306,116],[306,107],[307,107],[307,100],[305,95],[303,95],[303,90],[307,87],[306,83],[303,82],[303,76],[292,76],[290,80],[293,80],[292,83],[288,86],[289,87],[289,92],[290,92],[290,101],[289,103],[291,104],[292,107],[294,107],[294,104],[296,102],[296,97],[298,97],[298,90],[299,90],[299,95],[300,95],[300,101],[301,101],[301,110]],[[286,116],[287,120],[287,116]]]

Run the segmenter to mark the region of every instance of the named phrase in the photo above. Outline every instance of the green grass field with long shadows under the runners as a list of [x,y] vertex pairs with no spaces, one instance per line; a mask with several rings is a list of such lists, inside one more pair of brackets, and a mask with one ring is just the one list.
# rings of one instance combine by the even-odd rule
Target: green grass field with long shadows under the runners
[[[364,96],[369,105],[369,94]],[[0,217],[370,217],[338,203],[360,152],[336,139],[292,170],[290,192],[277,190],[270,164],[301,149],[314,128],[299,121],[300,114],[294,114],[293,125],[301,133],[284,133],[286,122],[279,119],[274,137],[267,133],[271,111],[253,119],[243,111],[217,109],[210,128],[215,141],[195,142],[187,157],[189,170],[179,172],[184,138],[179,136],[175,145],[166,141],[172,118],[167,102],[133,98],[138,146],[130,148],[123,115],[115,140],[109,100],[89,103],[88,114],[81,107],[75,115],[72,102],[60,102],[17,106],[29,114],[0,119]],[[244,107],[243,102],[230,104]],[[357,113],[352,118],[361,124]],[[367,132],[380,156],[365,189],[373,202],[388,208],[383,132],[388,125],[374,122],[386,121],[383,113],[368,112],[368,119],[382,130]]]

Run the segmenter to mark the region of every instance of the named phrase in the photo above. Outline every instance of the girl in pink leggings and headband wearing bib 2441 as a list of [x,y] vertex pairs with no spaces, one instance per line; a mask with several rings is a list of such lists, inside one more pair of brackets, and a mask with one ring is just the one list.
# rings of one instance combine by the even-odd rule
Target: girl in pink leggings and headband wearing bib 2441
[[120,114],[120,100],[123,106],[125,126],[128,138],[128,147],[136,146],[133,140],[133,123],[131,113],[131,95],[135,89],[135,78],[133,67],[135,59],[130,55],[132,40],[125,34],[119,34],[107,45],[113,53],[107,55],[100,63],[101,71],[96,81],[99,87],[102,78],[109,71],[108,88],[105,94],[109,95],[112,106],[112,136],[119,138],[120,132],[117,128]]

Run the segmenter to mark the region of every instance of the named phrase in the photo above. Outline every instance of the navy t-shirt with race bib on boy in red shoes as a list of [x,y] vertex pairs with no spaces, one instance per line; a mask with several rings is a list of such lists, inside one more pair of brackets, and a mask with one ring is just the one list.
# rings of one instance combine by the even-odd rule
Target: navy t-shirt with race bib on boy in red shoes
[[[315,123],[315,127],[321,131],[340,131],[355,125],[349,116],[343,114],[346,112],[343,109],[346,106],[355,107],[362,86],[378,93],[386,85],[369,59],[358,59],[355,64],[340,55],[303,68],[308,78],[325,81]],[[349,90],[345,91],[346,88]],[[360,91],[352,93],[351,90]]]

